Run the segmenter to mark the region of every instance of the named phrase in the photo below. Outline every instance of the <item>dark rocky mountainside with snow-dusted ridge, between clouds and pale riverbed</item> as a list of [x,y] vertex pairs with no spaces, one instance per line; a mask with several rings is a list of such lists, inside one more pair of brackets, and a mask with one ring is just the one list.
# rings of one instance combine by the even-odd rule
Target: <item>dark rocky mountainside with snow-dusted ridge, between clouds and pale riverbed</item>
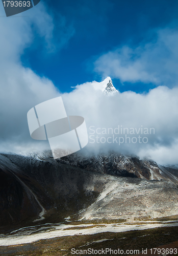
[[0,176],[1,226],[178,215],[176,167],[137,157],[0,154]]

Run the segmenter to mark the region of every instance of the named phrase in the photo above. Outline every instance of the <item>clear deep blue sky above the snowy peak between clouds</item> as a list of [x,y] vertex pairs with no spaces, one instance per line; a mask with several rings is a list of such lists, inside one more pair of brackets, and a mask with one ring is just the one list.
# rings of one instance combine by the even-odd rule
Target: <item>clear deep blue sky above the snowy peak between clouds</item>
[[154,41],[160,29],[176,28],[176,0],[41,2],[53,17],[53,46],[46,48],[35,27],[32,28],[34,42],[21,56],[24,66],[48,77],[61,92],[70,92],[71,87],[87,81],[101,81],[105,76],[111,76],[120,92],[148,92],[158,85],[154,81],[120,79],[111,70],[96,70],[94,63],[109,51],[123,46],[135,49]]

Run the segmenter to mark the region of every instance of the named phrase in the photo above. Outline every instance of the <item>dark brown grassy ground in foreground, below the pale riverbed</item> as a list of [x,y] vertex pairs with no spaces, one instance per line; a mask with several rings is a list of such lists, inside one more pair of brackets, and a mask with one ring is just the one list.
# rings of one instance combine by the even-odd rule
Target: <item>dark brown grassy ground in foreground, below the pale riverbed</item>
[[[146,223],[145,223],[146,224]],[[166,223],[165,223],[166,224]],[[168,225],[174,225],[174,226],[168,226]],[[175,226],[176,224],[176,226]],[[109,225],[109,224],[108,224]],[[115,224],[117,226],[117,224]],[[111,232],[111,231],[105,231],[102,232],[100,229],[100,232],[93,233],[93,234],[84,234],[84,230],[86,229],[78,229],[78,232],[81,232],[81,235],[74,234],[74,230],[77,228],[81,228],[82,226],[75,226],[75,229],[72,229],[73,227],[70,226],[68,229],[69,233],[68,236],[62,236],[62,237],[56,237],[56,238],[50,238],[50,239],[43,239],[38,240],[36,242],[26,243],[26,244],[19,244],[19,245],[11,245],[11,246],[1,246],[0,247],[0,255],[7,255],[7,256],[32,256],[32,255],[82,255],[86,254],[86,250],[89,249],[89,252],[93,249],[92,254],[90,255],[100,255],[99,250],[103,248],[103,250],[106,250],[106,248],[111,249],[111,253],[108,252],[108,255],[112,255],[112,250],[123,250],[123,254],[129,255],[126,253],[126,250],[137,250],[135,252],[142,252],[142,249],[147,248],[147,255],[150,254],[151,248],[172,248],[174,249],[174,252],[171,253],[162,253],[155,255],[176,255],[176,249],[178,248],[178,232],[177,232],[177,222],[169,222],[166,224],[166,227],[162,226],[161,223],[159,227],[156,228],[148,228],[148,227],[154,227],[153,225],[156,224],[147,224],[150,226],[147,226],[148,229],[143,229],[143,223],[137,223],[136,225],[133,225],[133,227],[137,230],[131,230],[131,231],[125,231],[125,232]],[[96,225],[94,225],[96,228]],[[100,226],[100,225],[98,225]],[[105,225],[107,226],[107,225]],[[114,226],[114,224],[113,224]],[[146,228],[146,227],[145,227]],[[88,229],[90,227],[88,226]],[[141,230],[140,230],[141,229]],[[123,231],[123,230],[122,230]],[[47,234],[47,232],[45,232]],[[72,235],[72,236],[71,236]],[[10,239],[10,238],[9,238]],[[10,240],[9,240],[10,241]],[[164,246],[165,245],[165,246]],[[72,250],[73,248],[73,250]],[[77,251],[79,250],[79,251]],[[77,252],[77,254],[72,254],[71,252]],[[80,252],[80,254],[79,254]],[[116,251],[115,251],[116,252]],[[133,254],[133,253],[132,253]],[[136,254],[136,253],[135,253]],[[154,254],[152,252],[152,254]],[[88,253],[89,255],[89,253]],[[114,255],[122,255],[120,254],[114,254]],[[145,255],[145,254],[144,254]]]

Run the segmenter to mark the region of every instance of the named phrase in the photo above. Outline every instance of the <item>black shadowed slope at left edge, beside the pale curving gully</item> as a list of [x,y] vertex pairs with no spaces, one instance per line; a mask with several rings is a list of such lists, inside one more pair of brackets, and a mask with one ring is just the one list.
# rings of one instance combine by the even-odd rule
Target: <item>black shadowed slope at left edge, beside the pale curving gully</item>
[[1,226],[34,219],[40,212],[33,193],[13,173],[14,167],[13,164],[11,168],[0,165]]

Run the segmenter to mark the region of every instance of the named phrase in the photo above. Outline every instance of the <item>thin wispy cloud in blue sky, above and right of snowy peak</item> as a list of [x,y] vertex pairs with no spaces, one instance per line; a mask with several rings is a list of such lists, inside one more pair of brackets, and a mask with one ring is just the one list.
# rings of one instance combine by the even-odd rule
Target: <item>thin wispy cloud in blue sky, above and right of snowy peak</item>
[[176,29],[160,29],[154,40],[142,42],[137,48],[123,46],[101,55],[95,61],[95,71],[122,82],[152,82],[172,87],[178,78],[177,40]]

